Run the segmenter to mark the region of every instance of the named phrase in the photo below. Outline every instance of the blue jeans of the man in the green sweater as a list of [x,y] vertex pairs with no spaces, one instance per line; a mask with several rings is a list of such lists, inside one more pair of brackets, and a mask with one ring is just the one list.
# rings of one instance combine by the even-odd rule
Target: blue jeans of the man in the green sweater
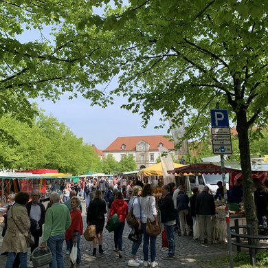
[[65,234],[58,234],[57,236],[50,236],[47,241],[47,246],[52,252],[52,263],[49,263],[49,268],[64,268],[63,259],[63,242]]

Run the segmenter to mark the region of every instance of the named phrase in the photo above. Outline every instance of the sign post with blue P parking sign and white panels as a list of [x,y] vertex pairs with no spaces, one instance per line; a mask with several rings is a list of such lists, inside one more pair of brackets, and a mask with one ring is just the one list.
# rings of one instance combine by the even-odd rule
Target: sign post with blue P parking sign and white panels
[[210,110],[212,126],[212,148],[215,155],[221,155],[221,175],[223,177],[223,191],[225,200],[225,219],[227,229],[227,239],[229,246],[230,267],[234,268],[232,257],[232,243],[230,232],[230,216],[226,190],[225,163],[223,155],[232,154],[231,133],[229,127],[228,111],[219,110],[219,103],[216,103],[216,110]]

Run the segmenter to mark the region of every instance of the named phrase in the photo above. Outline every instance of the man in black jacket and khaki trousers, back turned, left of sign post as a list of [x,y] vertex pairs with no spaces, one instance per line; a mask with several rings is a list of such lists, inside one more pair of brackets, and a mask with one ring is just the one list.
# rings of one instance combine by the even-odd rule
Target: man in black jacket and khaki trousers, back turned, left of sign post
[[197,203],[195,212],[199,221],[200,243],[205,243],[205,238],[208,244],[212,244],[212,217],[216,213],[214,197],[209,194],[208,186],[203,188],[203,192],[197,194]]

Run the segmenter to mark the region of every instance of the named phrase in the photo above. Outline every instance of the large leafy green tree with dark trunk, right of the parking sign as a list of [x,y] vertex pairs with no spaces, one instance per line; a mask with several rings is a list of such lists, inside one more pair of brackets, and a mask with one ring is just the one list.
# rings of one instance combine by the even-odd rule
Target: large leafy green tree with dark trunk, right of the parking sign
[[89,25],[105,32],[105,50],[98,52],[107,71],[102,76],[119,76],[111,93],[128,96],[122,107],[139,112],[144,125],[155,110],[163,120],[178,111],[173,126],[187,116],[188,139],[208,132],[216,102],[227,109],[238,132],[247,223],[257,232],[249,130],[267,124],[266,1],[129,3],[122,8],[122,1],[115,1],[105,17],[84,23],[85,32]]

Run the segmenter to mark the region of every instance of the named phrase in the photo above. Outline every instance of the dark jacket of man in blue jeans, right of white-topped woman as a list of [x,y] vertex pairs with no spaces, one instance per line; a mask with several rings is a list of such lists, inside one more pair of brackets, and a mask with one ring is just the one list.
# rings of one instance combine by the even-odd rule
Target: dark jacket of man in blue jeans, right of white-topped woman
[[161,212],[161,223],[167,223],[168,221],[175,221],[176,212],[171,194],[159,200],[158,208]]

